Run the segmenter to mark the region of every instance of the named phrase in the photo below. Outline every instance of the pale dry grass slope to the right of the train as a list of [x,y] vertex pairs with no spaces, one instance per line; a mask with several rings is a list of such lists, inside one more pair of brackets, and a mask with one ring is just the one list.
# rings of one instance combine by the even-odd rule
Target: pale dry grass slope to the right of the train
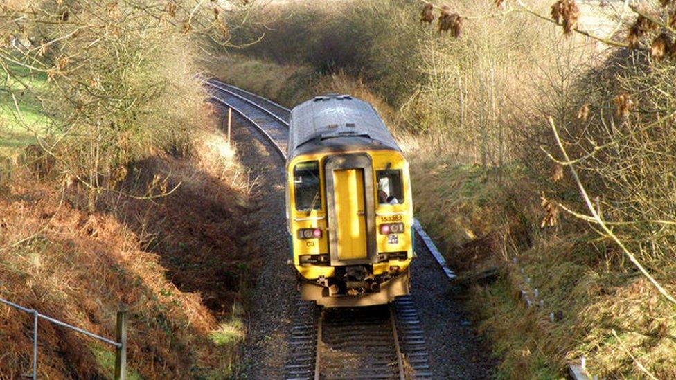
[[[502,273],[497,282],[472,288],[470,298],[479,332],[503,357],[501,376],[557,377],[585,355],[590,372],[601,378],[643,377],[613,329],[652,374],[676,376],[673,309],[623,266],[612,245],[581,232],[586,228],[579,221],[564,217],[553,228],[540,228],[540,199],[522,170],[506,170],[500,185],[481,181],[471,165],[425,152],[411,159],[416,215],[454,269],[468,275],[497,266]],[[675,271],[666,265],[657,273],[671,291]],[[535,307],[526,306],[521,289]]]

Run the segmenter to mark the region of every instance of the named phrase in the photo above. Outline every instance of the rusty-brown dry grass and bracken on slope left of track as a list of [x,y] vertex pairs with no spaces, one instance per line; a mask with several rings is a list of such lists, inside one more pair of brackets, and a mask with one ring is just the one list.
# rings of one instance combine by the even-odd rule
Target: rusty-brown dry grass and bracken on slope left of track
[[[0,296],[109,337],[115,312],[128,309],[128,361],[142,377],[232,374],[237,344],[212,336],[241,318],[233,302],[247,302],[256,262],[241,216],[255,186],[221,132],[197,131],[196,146],[193,159],[133,163],[118,183],[142,195],[168,176],[168,186],[181,182],[168,197],[109,192],[91,215],[78,207],[86,201],[78,189],[61,194],[17,169],[0,196]],[[0,313],[0,378],[15,378],[30,372],[32,319],[8,307]],[[112,374],[109,347],[48,323],[39,328],[41,377]],[[229,329],[241,341],[243,325]]]

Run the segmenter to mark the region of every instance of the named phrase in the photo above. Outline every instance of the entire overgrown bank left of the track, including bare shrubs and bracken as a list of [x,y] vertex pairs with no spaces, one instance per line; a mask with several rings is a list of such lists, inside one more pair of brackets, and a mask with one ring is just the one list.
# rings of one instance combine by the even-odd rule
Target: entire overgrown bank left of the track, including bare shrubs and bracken
[[[195,62],[242,7],[3,5],[0,297],[107,337],[126,309],[132,378],[237,373],[255,183]],[[33,320],[0,309],[13,379],[30,373]],[[112,377],[110,347],[82,334],[41,322],[38,351],[39,378]]]

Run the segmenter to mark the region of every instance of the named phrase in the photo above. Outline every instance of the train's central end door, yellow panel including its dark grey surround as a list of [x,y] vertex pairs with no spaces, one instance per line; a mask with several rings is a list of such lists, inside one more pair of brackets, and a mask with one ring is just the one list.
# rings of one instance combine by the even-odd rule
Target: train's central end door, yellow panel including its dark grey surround
[[377,254],[371,159],[331,156],[324,170],[331,264],[367,264]]

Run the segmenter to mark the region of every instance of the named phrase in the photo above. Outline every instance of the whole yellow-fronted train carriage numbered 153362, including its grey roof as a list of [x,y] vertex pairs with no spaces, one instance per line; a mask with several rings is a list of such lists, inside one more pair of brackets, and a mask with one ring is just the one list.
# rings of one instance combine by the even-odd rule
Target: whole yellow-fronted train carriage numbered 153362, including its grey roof
[[317,96],[291,112],[287,156],[290,262],[304,300],[379,305],[409,293],[409,166],[371,105]]

